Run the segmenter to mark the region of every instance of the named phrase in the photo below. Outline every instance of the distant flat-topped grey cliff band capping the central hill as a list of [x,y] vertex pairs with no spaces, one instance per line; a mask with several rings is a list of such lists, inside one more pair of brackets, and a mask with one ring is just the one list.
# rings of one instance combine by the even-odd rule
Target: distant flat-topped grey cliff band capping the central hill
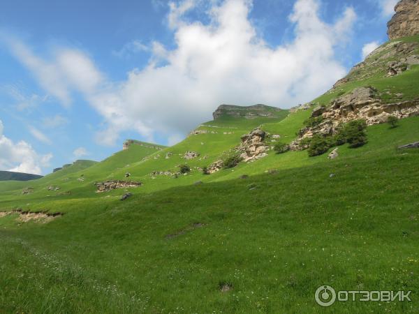
[[233,117],[245,117],[247,119],[255,119],[258,117],[275,117],[275,113],[282,111],[277,107],[267,105],[253,105],[242,107],[236,105],[220,105],[213,113],[214,120],[222,116],[228,115]]

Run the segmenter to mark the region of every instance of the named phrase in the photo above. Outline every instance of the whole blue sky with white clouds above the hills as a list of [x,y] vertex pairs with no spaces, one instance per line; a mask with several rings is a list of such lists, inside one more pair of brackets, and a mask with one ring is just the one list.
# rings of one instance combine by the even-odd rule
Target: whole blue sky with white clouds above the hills
[[387,40],[396,2],[3,1],[0,170],[174,144],[221,103],[308,102]]

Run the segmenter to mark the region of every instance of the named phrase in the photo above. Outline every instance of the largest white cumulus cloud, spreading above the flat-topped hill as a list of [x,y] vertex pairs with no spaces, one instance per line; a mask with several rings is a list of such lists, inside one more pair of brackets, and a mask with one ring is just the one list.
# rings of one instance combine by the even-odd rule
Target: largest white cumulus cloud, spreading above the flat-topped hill
[[[249,20],[251,1],[212,1],[206,24],[184,17],[197,3],[170,2],[168,25],[176,47],[167,50],[152,43],[149,64],[131,70],[122,82],[107,80],[80,51],[58,51],[52,61],[39,59],[22,43],[15,43],[19,49],[13,51],[64,103],[71,89],[84,95],[104,119],[96,134],[101,144],[115,144],[126,130],[150,141],[156,133],[185,134],[211,119],[221,103],[291,107],[312,100],[346,73],[335,48],[351,35],[356,18],[352,8],[328,24],[319,17],[320,1],[297,0],[290,16],[295,39],[270,47]],[[44,84],[52,73],[63,79],[64,91],[61,85],[52,91]]]

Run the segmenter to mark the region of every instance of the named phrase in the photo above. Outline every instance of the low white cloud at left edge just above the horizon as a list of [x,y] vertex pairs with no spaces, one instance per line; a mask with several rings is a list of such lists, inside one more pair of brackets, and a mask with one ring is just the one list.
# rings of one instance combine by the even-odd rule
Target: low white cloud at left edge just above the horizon
[[24,141],[13,142],[3,135],[0,120],[0,170],[41,174],[41,167],[47,167],[52,154],[39,155]]

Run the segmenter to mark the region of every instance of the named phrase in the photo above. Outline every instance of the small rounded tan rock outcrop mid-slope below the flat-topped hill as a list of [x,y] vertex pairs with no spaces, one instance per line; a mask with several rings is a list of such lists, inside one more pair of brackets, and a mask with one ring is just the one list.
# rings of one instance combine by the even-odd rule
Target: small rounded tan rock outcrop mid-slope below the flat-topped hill
[[237,147],[242,160],[247,163],[267,156],[269,147],[265,145],[265,131],[256,128],[251,133],[242,135],[242,143]]

